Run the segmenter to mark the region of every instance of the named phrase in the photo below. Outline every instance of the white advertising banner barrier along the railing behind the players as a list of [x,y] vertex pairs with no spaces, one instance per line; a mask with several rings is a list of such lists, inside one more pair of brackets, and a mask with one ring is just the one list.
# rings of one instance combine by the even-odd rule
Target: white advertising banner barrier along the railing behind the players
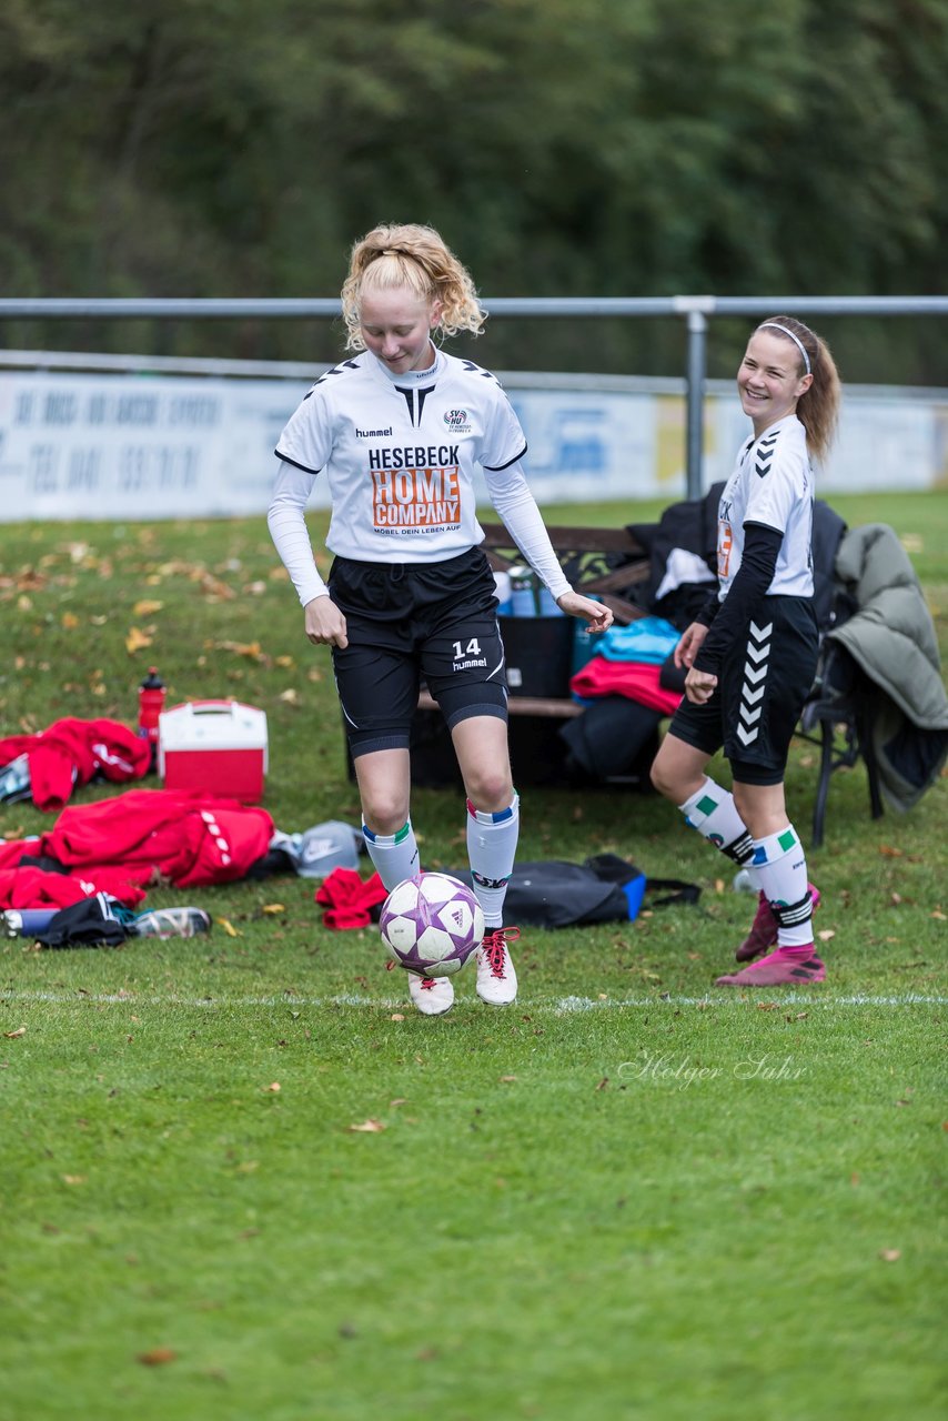
[[[145,362],[144,362],[145,364]],[[0,371],[0,522],[239,517],[267,506],[273,448],[308,378]],[[685,497],[684,382],[500,377],[540,503]],[[948,483],[948,391],[850,385],[822,495]],[[748,422],[708,382],[705,486]],[[483,490],[482,490],[483,492]],[[313,506],[324,506],[317,479]]]

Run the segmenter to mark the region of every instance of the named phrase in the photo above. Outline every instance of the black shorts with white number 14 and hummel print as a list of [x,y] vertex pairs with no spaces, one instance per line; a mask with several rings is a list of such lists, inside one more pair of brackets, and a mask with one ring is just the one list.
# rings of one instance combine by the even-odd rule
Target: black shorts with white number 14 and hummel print
[[475,715],[506,720],[507,681],[493,573],[480,549],[443,563],[337,557],[330,597],[348,647],[333,669],[352,757],[406,747],[425,681],[449,728]]

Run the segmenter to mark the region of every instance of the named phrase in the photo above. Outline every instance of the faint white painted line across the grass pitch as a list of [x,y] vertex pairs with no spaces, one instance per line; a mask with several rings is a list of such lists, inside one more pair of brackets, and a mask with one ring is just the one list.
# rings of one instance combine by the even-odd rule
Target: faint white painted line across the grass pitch
[[[463,1003],[465,998],[460,999]],[[476,998],[469,1000],[476,1003]],[[554,1016],[567,1016],[580,1012],[603,1012],[632,1007],[655,1009],[662,1006],[746,1006],[753,1002],[767,1002],[767,993],[748,996],[742,992],[713,992],[705,996],[677,996],[674,993],[662,996],[624,996],[624,998],[588,998],[563,996],[556,999],[523,999],[516,1005],[530,1012],[546,1012]],[[17,1002],[40,1002],[51,1006],[71,1006],[77,1002],[90,1002],[98,1006],[185,1006],[192,1009],[230,1009],[244,1006],[371,1006],[387,1010],[409,1010],[411,1003],[404,998],[364,996],[355,992],[340,992],[330,996],[307,996],[297,992],[277,992],[267,996],[179,996],[173,992],[139,995],[135,992],[43,992],[17,988],[0,990],[0,1002],[11,1006]],[[780,1005],[799,1006],[804,1003],[812,1007],[844,1007],[844,1006],[945,1006],[948,996],[928,995],[921,992],[900,992],[893,996],[874,996],[871,993],[856,992],[844,996],[834,996],[827,992],[787,992],[779,998]]]

